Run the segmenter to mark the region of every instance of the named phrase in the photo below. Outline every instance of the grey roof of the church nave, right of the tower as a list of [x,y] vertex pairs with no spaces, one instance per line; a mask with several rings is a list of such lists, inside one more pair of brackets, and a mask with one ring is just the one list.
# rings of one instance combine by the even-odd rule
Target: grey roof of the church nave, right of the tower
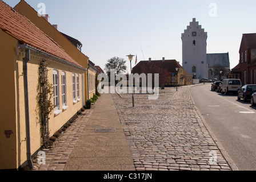
[[230,67],[229,52],[227,53],[207,53],[208,67],[211,68],[215,64],[220,64],[223,67]]

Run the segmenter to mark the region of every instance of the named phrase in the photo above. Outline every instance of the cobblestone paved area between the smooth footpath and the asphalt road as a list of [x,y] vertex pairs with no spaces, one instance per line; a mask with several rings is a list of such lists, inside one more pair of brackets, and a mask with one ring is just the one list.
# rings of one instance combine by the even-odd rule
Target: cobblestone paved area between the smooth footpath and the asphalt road
[[[112,94],[136,170],[231,170],[191,100],[189,86]],[[216,155],[214,155],[216,154]]]

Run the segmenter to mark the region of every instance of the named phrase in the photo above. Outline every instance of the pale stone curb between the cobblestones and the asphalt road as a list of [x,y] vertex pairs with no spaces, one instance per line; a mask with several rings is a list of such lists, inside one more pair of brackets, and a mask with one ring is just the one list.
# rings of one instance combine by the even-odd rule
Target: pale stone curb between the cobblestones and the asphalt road
[[[197,85],[196,85],[197,86]],[[201,118],[203,125],[205,125],[206,130],[209,132],[211,138],[213,138],[215,144],[217,145],[219,151],[221,152],[221,154],[223,155],[223,157],[226,159],[227,163],[229,164],[230,168],[232,171],[239,171],[238,167],[235,165],[234,161],[230,158],[229,154],[227,154],[227,151],[225,150],[225,148],[222,146],[222,144],[219,142],[219,140],[217,139],[217,137],[215,137],[213,131],[211,131],[210,127],[207,125],[205,119],[203,118],[202,114],[200,113],[199,109],[197,108],[197,106],[195,106],[195,102],[193,97],[191,96],[190,93],[190,88],[189,88],[189,94],[190,94],[190,98],[191,101],[193,103],[193,106],[195,108],[195,110],[197,111],[199,117]]]

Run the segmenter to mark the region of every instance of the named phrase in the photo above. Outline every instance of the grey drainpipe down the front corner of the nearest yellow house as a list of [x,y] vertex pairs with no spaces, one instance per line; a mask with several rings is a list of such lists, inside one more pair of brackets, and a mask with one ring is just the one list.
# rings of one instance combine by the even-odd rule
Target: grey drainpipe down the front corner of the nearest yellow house
[[30,50],[26,50],[26,57],[23,58],[23,80],[24,80],[24,98],[25,98],[25,118],[26,118],[26,147],[27,147],[27,163],[30,169],[33,169],[30,149],[30,123],[29,123],[29,90],[27,84],[27,62],[30,60]]

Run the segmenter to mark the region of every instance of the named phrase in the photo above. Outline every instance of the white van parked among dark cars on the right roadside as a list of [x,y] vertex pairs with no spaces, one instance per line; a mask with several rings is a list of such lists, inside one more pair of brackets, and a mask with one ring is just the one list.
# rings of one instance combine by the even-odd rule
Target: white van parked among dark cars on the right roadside
[[228,94],[231,93],[238,93],[238,90],[241,89],[242,83],[239,79],[225,79],[222,81],[221,84],[221,93]]

